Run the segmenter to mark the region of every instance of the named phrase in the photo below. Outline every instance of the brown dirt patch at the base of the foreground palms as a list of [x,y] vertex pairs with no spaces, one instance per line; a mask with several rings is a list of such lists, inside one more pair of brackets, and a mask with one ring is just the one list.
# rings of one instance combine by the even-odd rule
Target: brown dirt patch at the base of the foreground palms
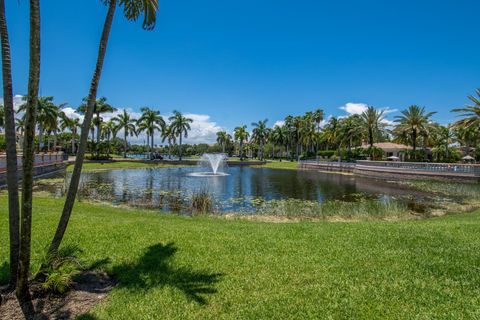
[[[75,280],[72,289],[65,295],[45,294],[40,288],[32,286],[37,319],[75,319],[105,299],[115,286],[115,281],[104,272],[84,272]],[[0,318],[25,319],[14,294],[4,296],[0,305]]]

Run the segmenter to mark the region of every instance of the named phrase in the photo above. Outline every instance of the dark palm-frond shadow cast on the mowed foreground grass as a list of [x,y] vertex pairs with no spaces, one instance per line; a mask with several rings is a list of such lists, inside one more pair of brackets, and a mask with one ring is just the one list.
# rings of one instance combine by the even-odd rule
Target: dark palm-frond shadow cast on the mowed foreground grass
[[173,243],[155,244],[146,249],[137,263],[114,267],[118,287],[148,290],[170,286],[181,290],[188,299],[206,304],[204,295],[217,292],[214,285],[222,274],[176,268],[170,262],[176,251]]

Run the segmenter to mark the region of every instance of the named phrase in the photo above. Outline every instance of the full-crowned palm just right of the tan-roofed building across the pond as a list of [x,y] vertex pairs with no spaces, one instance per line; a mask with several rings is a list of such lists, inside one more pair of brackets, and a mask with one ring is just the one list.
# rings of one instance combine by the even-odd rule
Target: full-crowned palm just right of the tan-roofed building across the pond
[[436,112],[426,112],[425,107],[416,105],[403,110],[400,116],[395,117],[398,123],[396,132],[405,132],[410,136],[414,157],[416,158],[417,140],[419,134],[424,131],[429,123],[430,117]]

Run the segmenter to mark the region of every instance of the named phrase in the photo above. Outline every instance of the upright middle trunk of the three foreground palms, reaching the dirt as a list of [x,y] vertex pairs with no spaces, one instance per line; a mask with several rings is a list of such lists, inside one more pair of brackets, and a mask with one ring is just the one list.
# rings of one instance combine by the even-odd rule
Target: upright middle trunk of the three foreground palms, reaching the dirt
[[30,0],[30,67],[27,107],[25,110],[25,140],[23,149],[22,210],[20,216],[20,253],[17,273],[17,299],[26,319],[33,318],[28,277],[30,275],[30,244],[32,231],[32,188],[35,159],[35,122],[40,82],[40,1]]

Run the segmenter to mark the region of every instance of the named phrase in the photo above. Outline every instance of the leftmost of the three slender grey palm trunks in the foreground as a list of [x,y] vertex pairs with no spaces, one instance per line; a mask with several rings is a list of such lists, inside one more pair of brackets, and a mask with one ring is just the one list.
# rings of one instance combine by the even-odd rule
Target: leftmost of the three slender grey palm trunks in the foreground
[[17,148],[15,136],[15,110],[13,109],[12,67],[8,39],[5,0],[0,0],[0,37],[2,44],[3,102],[5,105],[5,137],[7,140],[7,186],[10,231],[10,288],[15,288],[20,245],[18,201]]

